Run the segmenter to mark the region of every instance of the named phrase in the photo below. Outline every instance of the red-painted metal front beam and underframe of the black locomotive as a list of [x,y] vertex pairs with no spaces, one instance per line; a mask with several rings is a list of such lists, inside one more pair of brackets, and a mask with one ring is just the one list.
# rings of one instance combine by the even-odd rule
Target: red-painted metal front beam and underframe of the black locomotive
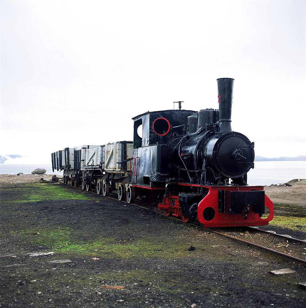
[[[179,183],[179,185],[185,186],[197,186],[192,184]],[[269,221],[273,219],[273,203],[265,195],[265,206],[268,207],[270,213],[265,219],[260,218],[259,214],[256,214],[250,210],[246,219],[242,217],[241,214],[227,214],[218,212],[218,193],[219,190],[228,191],[253,191],[253,190],[264,190],[263,186],[202,186],[203,188],[208,188],[207,195],[199,202],[198,205],[198,221],[207,227],[232,227],[232,226],[256,226],[256,225],[268,225]],[[203,218],[203,211],[211,207],[215,211],[215,216],[212,220],[207,221]],[[163,203],[158,205],[160,210],[170,210],[175,217],[185,217],[182,216],[182,212],[179,209],[179,200],[177,196],[164,197]]]

